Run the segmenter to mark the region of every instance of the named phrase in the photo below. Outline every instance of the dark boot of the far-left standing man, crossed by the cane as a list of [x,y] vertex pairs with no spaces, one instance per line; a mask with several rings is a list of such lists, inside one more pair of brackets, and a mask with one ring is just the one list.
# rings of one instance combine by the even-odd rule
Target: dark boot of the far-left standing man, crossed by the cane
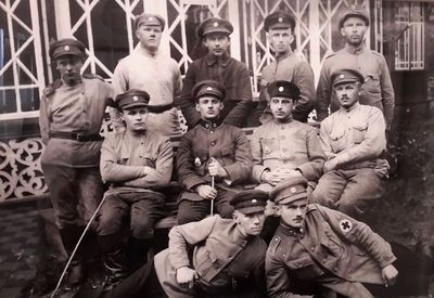
[[[82,226],[78,226],[75,224],[67,224],[63,229],[60,229],[62,243],[68,257],[74,251],[74,248],[77,245],[82,231]],[[66,281],[71,286],[77,286],[81,284],[85,280],[84,252],[85,248],[84,244],[81,243],[68,267]]]

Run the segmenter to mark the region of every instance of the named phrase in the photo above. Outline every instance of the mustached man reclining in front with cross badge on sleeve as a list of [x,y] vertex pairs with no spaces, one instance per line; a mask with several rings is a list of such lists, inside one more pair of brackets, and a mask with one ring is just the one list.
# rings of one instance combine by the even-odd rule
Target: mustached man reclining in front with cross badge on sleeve
[[373,297],[369,284],[393,285],[390,244],[345,213],[308,205],[306,186],[303,177],[291,178],[270,193],[281,221],[266,256],[268,297]]

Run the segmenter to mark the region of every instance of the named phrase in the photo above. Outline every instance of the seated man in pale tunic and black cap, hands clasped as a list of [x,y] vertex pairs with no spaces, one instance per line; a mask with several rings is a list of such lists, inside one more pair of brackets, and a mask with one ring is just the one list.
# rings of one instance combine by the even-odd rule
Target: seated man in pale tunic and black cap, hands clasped
[[278,80],[267,91],[273,120],[253,132],[253,181],[260,183],[257,189],[269,192],[282,180],[302,174],[314,187],[322,174],[326,156],[317,130],[293,119],[299,89],[290,81]]

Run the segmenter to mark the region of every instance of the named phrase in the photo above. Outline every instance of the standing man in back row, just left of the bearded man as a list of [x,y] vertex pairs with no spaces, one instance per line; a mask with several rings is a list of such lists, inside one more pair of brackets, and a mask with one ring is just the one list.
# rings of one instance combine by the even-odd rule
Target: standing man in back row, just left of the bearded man
[[[276,61],[264,67],[260,80],[260,95],[257,107],[259,120],[264,124],[272,117],[267,104],[270,99],[267,86],[276,80],[286,80],[295,83],[301,92],[297,104],[294,106],[295,120],[306,122],[307,116],[315,107],[314,72],[309,63],[293,52],[291,43],[294,41],[295,20],[290,14],[277,11],[267,15],[264,29],[268,33],[268,41],[275,52]],[[266,113],[263,115],[263,113]],[[268,115],[267,115],[268,114]]]

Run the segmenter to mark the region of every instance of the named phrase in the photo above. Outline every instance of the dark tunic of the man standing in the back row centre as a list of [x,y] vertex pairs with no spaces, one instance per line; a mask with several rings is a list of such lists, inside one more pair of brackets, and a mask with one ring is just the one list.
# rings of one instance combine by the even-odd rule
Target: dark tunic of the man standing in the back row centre
[[242,127],[248,116],[252,104],[252,86],[247,67],[230,56],[219,60],[213,54],[195,60],[189,66],[183,80],[179,104],[190,128],[201,119],[194,108],[191,91],[201,80],[216,80],[225,86],[225,107],[220,113],[226,124]]

